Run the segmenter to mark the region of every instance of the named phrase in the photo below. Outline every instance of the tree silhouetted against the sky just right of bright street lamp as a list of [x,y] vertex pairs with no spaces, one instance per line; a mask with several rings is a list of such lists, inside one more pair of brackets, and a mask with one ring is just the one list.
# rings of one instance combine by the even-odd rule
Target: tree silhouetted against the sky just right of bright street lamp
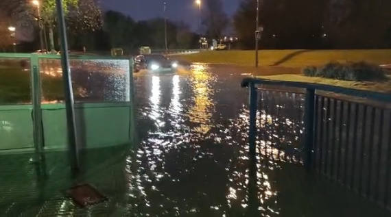
[[214,39],[220,38],[228,22],[222,0],[206,0],[206,15],[202,21],[202,24],[206,26],[206,36]]

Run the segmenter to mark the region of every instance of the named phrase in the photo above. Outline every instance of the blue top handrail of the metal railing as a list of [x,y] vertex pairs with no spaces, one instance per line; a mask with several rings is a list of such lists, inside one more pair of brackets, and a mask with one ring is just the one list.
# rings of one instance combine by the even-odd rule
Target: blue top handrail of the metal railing
[[369,90],[343,88],[339,86],[331,86],[326,84],[313,84],[313,83],[296,82],[296,81],[278,81],[278,80],[247,77],[241,81],[241,87],[248,87],[250,83],[265,84],[265,85],[272,85],[272,86],[287,86],[290,88],[305,88],[311,90],[321,90],[325,92],[333,92],[336,94],[345,94],[352,97],[361,97],[361,98],[373,99],[377,101],[391,103],[391,94],[382,93],[382,92],[373,92]]

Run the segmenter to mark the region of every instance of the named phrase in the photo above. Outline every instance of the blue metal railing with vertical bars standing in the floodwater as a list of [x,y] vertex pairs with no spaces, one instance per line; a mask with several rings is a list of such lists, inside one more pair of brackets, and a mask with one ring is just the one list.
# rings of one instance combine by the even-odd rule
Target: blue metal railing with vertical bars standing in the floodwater
[[[254,78],[241,86],[250,94],[250,155],[298,162],[391,208],[391,94]],[[281,119],[290,128],[276,130]],[[284,145],[289,133],[296,140]]]

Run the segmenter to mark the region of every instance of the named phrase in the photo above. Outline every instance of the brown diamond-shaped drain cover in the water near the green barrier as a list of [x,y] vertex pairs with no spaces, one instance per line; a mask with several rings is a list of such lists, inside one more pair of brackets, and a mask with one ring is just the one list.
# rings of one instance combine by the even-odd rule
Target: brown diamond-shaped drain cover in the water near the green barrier
[[68,196],[80,207],[86,207],[106,201],[106,196],[99,193],[93,186],[82,184],[67,190]]

